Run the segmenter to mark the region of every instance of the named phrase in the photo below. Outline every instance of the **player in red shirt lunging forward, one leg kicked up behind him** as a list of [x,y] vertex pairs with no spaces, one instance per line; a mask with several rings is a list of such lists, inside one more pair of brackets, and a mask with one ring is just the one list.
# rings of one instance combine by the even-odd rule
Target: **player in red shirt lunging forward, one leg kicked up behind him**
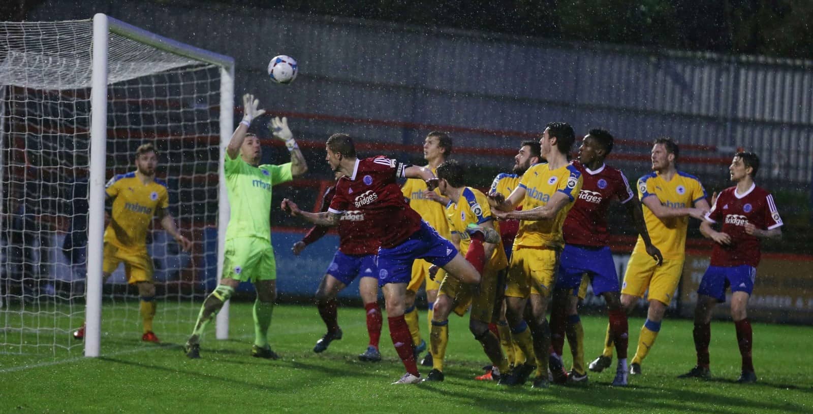
[[[367,223],[364,234],[370,243],[376,243],[375,240],[380,242],[378,286],[384,291],[389,334],[406,367],[406,374],[393,384],[415,384],[421,378],[415,364],[412,337],[403,315],[412,261],[424,259],[465,283],[479,284],[480,273],[457,252],[449,240],[442,238],[421,220],[420,215],[403,199],[396,179],[424,179],[428,188],[433,189],[437,187],[437,179],[432,171],[383,156],[359,160],[353,140],[346,134],[331,136],[326,150],[326,160],[331,169],[345,174],[336,184],[336,195],[328,212],[305,212],[288,199],[282,201],[281,208],[294,217],[299,216],[322,226],[337,226],[342,214],[350,209],[364,213]],[[480,239],[484,239],[482,235]],[[485,257],[482,243],[478,245],[476,250]]]

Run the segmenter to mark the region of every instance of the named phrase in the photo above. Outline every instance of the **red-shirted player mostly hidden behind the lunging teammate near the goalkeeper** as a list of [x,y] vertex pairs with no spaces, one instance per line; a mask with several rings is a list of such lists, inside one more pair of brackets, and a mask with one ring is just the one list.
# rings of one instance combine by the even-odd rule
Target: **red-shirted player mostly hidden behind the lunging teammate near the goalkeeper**
[[[344,173],[337,172],[336,179],[340,179]],[[328,211],[330,202],[336,194],[336,186],[328,188],[322,196],[322,206],[320,211]],[[302,240],[293,244],[293,254],[299,256],[308,244],[314,243],[328,233],[327,226],[313,226]],[[356,276],[359,279],[359,294],[367,311],[367,334],[370,336],[370,343],[367,351],[359,355],[359,360],[376,362],[381,360],[378,351],[378,341],[381,336],[381,308],[378,306],[378,265],[376,265],[376,253],[378,244],[369,243],[364,230],[366,222],[364,213],[361,211],[348,211],[341,216],[341,221],[337,227],[339,233],[339,248],[333,256],[333,261],[328,265],[328,270],[322,278],[319,289],[316,291],[316,307],[319,308],[320,317],[324,325],[328,327],[328,332],[316,341],[314,352],[322,352],[328,349],[333,340],[341,339],[341,328],[337,321],[337,301],[336,296],[344,290]]]

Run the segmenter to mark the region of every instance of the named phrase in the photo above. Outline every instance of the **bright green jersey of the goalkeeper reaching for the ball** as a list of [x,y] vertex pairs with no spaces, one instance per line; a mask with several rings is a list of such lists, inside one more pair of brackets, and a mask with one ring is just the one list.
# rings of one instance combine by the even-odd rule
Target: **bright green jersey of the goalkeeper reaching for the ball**
[[271,242],[271,188],[293,179],[291,163],[252,166],[226,153],[224,173],[231,209],[226,239],[259,237]]

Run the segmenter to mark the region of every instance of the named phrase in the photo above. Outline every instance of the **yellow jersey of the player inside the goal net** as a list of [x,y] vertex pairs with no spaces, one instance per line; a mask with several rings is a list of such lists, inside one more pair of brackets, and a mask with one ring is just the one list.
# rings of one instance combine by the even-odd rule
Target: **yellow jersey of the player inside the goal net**
[[133,171],[113,177],[107,182],[105,192],[113,199],[111,221],[104,231],[105,243],[146,250],[146,235],[155,210],[169,205],[167,183],[159,179],[141,183]]

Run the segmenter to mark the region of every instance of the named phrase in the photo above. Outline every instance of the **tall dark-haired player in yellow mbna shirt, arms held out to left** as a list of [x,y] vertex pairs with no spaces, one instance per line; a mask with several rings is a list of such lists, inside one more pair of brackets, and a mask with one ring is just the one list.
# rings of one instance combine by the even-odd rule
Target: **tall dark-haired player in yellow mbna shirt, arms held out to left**
[[[539,140],[541,156],[547,163],[528,168],[520,186],[507,199],[497,193],[489,194],[494,216],[521,220],[508,267],[506,317],[511,326],[511,337],[528,356],[528,362],[502,377],[501,384],[523,384],[533,371],[529,361],[530,356],[534,356],[537,377],[533,387],[550,385],[547,358],[550,326],[546,311],[559,270],[559,254],[564,248],[564,218],[581,189],[581,173],[567,161],[567,153],[575,141],[576,134],[570,125],[548,123]],[[522,211],[515,211],[520,202],[523,203]],[[523,320],[528,302],[532,315],[532,320],[528,321],[530,326]],[[528,327],[533,332],[533,339]]]

